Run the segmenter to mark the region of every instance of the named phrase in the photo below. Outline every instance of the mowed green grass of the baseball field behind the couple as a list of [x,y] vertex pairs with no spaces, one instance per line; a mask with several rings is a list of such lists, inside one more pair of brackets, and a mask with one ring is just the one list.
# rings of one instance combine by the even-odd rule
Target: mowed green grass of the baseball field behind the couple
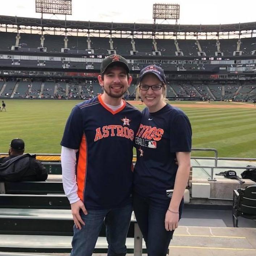
[[[78,100],[5,100],[7,112],[0,112],[0,152],[7,152],[13,138],[25,141],[25,152],[60,153],[66,120]],[[181,107],[192,124],[194,148],[216,148],[220,157],[256,158],[256,107],[199,108],[195,102]],[[218,102],[211,102],[218,105]],[[135,105],[140,109],[144,105]],[[213,153],[194,152],[197,156]]]

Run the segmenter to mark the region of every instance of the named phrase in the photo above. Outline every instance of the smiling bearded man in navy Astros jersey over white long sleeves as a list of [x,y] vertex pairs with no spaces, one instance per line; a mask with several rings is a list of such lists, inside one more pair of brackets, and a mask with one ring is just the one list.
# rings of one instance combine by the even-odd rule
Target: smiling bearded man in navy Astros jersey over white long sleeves
[[132,212],[133,140],[141,113],[122,100],[132,81],[122,56],[102,61],[98,81],[103,94],[75,106],[60,143],[63,187],[75,222],[71,255],[92,255],[104,222],[108,256],[121,256]]

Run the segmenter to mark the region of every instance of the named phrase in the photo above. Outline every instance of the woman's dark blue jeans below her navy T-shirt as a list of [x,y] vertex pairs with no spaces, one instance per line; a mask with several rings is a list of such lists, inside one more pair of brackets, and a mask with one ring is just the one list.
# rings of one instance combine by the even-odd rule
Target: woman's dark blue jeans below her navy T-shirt
[[[133,208],[139,228],[146,242],[148,256],[166,256],[174,231],[166,231],[164,227],[165,214],[170,200],[153,201],[133,194]],[[179,212],[183,209],[184,201],[181,200]]]

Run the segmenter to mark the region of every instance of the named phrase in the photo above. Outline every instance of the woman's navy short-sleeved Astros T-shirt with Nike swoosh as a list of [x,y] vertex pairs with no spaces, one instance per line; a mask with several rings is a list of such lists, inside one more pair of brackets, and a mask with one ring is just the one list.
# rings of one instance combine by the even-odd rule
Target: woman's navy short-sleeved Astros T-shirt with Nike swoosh
[[134,191],[152,199],[168,199],[178,166],[175,152],[191,151],[191,126],[188,117],[177,108],[165,105],[158,112],[142,112],[135,135],[137,162],[134,168]]

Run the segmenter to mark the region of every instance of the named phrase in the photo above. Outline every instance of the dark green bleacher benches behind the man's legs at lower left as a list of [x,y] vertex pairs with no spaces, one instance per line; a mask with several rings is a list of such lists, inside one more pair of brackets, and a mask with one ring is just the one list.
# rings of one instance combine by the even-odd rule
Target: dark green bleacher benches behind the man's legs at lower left
[[[0,251],[71,251],[74,221],[62,182],[1,182],[0,187]],[[94,252],[107,252],[105,237],[102,226]],[[127,253],[141,249],[135,238],[141,241],[142,234],[132,217]]]

